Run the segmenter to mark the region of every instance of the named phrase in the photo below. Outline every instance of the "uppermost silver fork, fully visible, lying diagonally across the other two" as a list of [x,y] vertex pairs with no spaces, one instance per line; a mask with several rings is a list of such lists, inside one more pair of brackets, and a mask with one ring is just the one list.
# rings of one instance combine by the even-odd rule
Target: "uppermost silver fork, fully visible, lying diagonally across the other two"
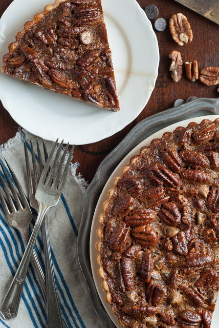
[[[60,157],[63,141],[56,150],[58,140],[56,140],[53,149],[49,155],[46,165],[42,171],[39,183],[36,189],[35,198],[39,203],[39,211],[37,219],[30,236],[27,248],[20,261],[19,267],[16,271],[14,279],[9,287],[6,297],[0,307],[0,313],[4,314],[5,319],[12,319],[16,317],[18,306],[20,302],[21,293],[28,270],[28,265],[32,256],[34,244],[42,223],[43,218],[49,209],[55,206],[60,198],[64,187],[65,180],[70,168],[70,161],[73,154],[73,147],[70,151],[68,160],[64,165],[65,156],[67,155],[68,146],[65,147],[63,154]],[[63,325],[60,325],[62,327]]]

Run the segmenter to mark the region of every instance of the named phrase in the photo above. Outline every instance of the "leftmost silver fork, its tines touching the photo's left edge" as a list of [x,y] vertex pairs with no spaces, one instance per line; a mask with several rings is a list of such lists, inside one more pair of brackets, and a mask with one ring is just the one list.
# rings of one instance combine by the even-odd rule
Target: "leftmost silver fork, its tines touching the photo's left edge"
[[[2,206],[5,211],[5,215],[8,221],[9,226],[17,229],[21,235],[24,236],[26,242],[28,243],[29,240],[29,224],[32,219],[32,212],[29,206],[29,203],[27,201],[27,198],[25,196],[25,193],[20,186],[20,183],[12,170],[11,166],[9,165],[8,161],[5,159],[9,172],[15,182],[15,185],[17,187],[17,190],[15,186],[13,185],[13,182],[11,181],[5,167],[3,166],[2,162],[0,162],[2,171],[5,175],[5,178],[8,182],[4,181],[2,176],[0,175],[0,181],[2,183],[2,187],[6,196],[6,199],[0,190],[0,200],[2,203]],[[10,194],[10,191],[12,195]],[[35,250],[33,251],[33,264],[36,270],[37,278],[39,280],[43,296],[46,297],[46,284],[45,284],[45,276],[42,271],[42,268],[40,266],[38,257],[36,255]]]

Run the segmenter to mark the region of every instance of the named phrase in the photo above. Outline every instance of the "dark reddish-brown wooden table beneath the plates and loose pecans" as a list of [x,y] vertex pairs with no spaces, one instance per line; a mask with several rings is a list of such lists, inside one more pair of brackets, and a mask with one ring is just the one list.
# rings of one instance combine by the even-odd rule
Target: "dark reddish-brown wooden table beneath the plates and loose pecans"
[[[11,2],[12,0],[1,0],[0,16]],[[155,30],[160,50],[159,74],[155,89],[141,114],[115,135],[94,144],[75,147],[74,161],[78,161],[80,164],[78,173],[81,173],[87,182],[92,180],[103,158],[124,138],[130,129],[145,117],[173,107],[174,101],[178,98],[187,99],[190,96],[219,97],[216,86],[207,87],[200,81],[193,83],[187,79],[185,74],[181,81],[174,83],[169,73],[170,59],[168,58],[168,54],[172,50],[178,50],[182,54],[183,61],[197,60],[200,69],[205,66],[219,67],[219,26],[173,0],[153,0],[152,2],[138,0],[138,3],[143,9],[150,4],[156,5],[159,9],[159,17],[166,19],[167,22],[173,13],[181,12],[186,15],[193,31],[193,40],[190,44],[181,47],[172,40],[168,26],[163,32]],[[153,27],[154,21],[151,20]],[[17,129],[18,125],[0,101],[0,144],[14,137]]]

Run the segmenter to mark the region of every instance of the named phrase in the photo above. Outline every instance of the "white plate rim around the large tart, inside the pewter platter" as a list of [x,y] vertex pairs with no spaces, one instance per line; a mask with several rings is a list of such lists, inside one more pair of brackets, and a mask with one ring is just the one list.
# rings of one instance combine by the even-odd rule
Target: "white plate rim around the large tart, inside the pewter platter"
[[[152,139],[161,138],[162,135],[164,134],[164,132],[173,131],[174,129],[176,129],[179,126],[187,127],[189,122],[200,123],[203,119],[210,119],[210,120],[213,121],[217,117],[219,117],[219,115],[208,115],[208,116],[193,117],[193,118],[190,118],[190,119],[186,119],[186,120],[177,122],[176,124],[170,125],[170,126],[164,128],[164,129],[152,134],[151,136],[147,137],[145,140],[143,140],[138,146],[136,146],[129,154],[127,154],[123,158],[123,160],[119,163],[117,168],[114,170],[112,175],[107,180],[106,185],[102,190],[102,193],[101,193],[101,195],[99,197],[99,200],[97,202],[97,206],[96,206],[96,209],[95,209],[95,212],[94,212],[92,226],[91,226],[91,236],[90,236],[91,269],[92,269],[92,274],[93,274],[94,282],[95,282],[95,285],[96,285],[96,289],[97,289],[97,292],[98,292],[99,297],[101,299],[101,302],[102,302],[106,312],[108,313],[109,317],[111,317],[112,321],[114,322],[114,324],[118,328],[122,328],[122,326],[119,324],[117,317],[115,315],[113,315],[113,313],[111,311],[111,306],[106,301],[106,293],[104,291],[102,291],[102,289],[101,289],[102,279],[99,277],[99,275],[97,273],[98,269],[99,269],[99,265],[97,263],[98,251],[96,250],[96,247],[95,247],[96,243],[99,240],[98,237],[97,237],[97,234],[96,234],[96,231],[99,228],[99,216],[103,213],[103,202],[106,201],[107,198],[108,198],[108,191],[111,188],[114,187],[115,178],[117,176],[121,175],[122,168],[125,165],[129,165],[130,158],[134,155],[138,155],[140,153],[140,149],[143,146],[149,146]],[[218,321],[219,321],[219,299],[216,303],[216,308],[215,308],[215,311],[214,311],[211,328],[218,328]]]

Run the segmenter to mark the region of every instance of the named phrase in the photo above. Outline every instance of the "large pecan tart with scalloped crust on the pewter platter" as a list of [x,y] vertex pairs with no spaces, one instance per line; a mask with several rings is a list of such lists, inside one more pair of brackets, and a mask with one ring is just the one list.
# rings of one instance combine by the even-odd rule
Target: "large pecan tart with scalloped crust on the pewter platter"
[[219,119],[143,147],[97,231],[107,301],[128,328],[210,328],[219,288]]

